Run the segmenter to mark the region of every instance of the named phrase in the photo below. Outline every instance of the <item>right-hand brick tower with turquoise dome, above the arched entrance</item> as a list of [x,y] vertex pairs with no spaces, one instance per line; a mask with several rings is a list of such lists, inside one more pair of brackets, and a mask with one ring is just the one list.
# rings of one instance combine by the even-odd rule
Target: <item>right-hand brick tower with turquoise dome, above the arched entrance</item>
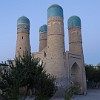
[[83,54],[81,20],[78,16],[68,19],[69,51],[75,54]]

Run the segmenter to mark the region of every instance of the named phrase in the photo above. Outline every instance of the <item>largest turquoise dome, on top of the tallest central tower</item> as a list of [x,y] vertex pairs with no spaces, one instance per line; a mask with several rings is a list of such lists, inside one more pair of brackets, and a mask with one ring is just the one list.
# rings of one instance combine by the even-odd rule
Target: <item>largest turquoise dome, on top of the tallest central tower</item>
[[51,5],[47,10],[47,16],[48,16],[48,18],[51,16],[60,16],[63,18],[62,7],[57,4]]

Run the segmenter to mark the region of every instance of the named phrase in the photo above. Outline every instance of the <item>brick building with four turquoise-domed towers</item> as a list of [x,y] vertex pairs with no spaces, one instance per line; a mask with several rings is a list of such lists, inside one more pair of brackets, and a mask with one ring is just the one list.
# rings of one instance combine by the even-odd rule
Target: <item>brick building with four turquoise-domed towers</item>
[[[66,28],[67,29],[67,28]],[[65,91],[71,84],[80,87],[80,94],[86,93],[86,76],[82,48],[81,19],[68,19],[69,51],[65,50],[64,16],[61,6],[54,4],[47,9],[47,25],[39,29],[39,51],[30,49],[30,21],[22,16],[17,20],[16,57],[31,52],[45,64],[45,70],[56,76],[59,91]],[[62,92],[63,93],[63,92]]]

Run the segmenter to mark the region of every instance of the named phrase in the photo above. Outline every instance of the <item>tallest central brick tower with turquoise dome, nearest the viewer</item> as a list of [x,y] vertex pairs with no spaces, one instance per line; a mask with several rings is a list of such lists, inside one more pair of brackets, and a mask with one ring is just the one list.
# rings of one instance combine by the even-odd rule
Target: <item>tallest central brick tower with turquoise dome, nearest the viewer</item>
[[59,5],[54,4],[48,8],[47,14],[46,69],[48,73],[56,76],[58,87],[66,89],[63,9]]

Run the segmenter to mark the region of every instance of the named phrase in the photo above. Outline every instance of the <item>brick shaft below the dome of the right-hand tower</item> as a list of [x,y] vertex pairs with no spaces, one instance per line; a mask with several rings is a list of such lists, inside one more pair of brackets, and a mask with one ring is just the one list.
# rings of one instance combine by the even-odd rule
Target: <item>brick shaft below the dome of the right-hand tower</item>
[[82,36],[80,27],[72,27],[69,32],[69,51],[78,55],[83,55]]

